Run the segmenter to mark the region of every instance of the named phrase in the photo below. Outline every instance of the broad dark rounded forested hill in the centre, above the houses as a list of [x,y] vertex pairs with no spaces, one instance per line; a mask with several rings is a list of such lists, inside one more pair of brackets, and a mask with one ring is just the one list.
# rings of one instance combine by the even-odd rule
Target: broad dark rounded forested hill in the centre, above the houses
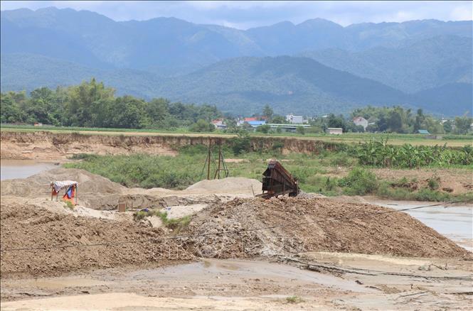
[[[369,90],[369,92],[366,92]],[[396,89],[321,65],[309,58],[233,58],[159,85],[164,97],[218,103],[223,111],[307,114],[349,111],[366,104],[408,104]]]

